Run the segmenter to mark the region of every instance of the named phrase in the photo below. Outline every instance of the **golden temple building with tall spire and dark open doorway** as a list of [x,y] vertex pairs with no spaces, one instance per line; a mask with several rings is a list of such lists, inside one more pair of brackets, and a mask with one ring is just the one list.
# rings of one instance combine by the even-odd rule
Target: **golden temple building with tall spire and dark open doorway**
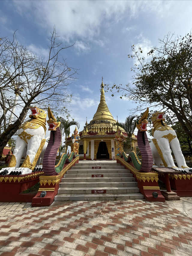
[[[86,120],[83,131],[79,132],[79,159],[115,159],[117,121],[113,118],[105,101],[103,79],[101,83],[101,99],[93,119],[88,123]],[[127,133],[121,127],[123,136]],[[71,146],[71,137],[67,138],[67,146]],[[133,135],[132,146],[136,151],[137,138]]]

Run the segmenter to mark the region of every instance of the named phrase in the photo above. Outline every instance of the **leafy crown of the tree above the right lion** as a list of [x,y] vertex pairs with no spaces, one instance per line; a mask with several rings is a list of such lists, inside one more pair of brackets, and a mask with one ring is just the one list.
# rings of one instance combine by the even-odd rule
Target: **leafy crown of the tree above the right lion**
[[169,33],[159,43],[159,47],[149,50],[147,61],[141,47],[135,49],[133,45],[133,54],[128,55],[136,61],[131,68],[133,86],[114,84],[107,90],[115,89],[121,96],[135,101],[136,110],[146,106],[164,110],[168,123],[179,120],[192,140],[192,34],[174,38]]

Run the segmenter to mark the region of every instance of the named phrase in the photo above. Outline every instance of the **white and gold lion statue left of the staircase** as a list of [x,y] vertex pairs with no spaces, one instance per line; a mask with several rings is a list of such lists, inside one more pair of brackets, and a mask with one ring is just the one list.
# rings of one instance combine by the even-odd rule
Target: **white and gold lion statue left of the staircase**
[[[18,130],[18,137],[13,155],[7,168],[7,174],[18,171],[18,174],[31,173],[35,167],[42,166],[44,152],[47,146],[46,111],[38,107],[31,107],[30,120],[24,122]],[[49,138],[49,137],[48,137]],[[26,156],[23,164],[19,167],[22,156]],[[12,174],[12,173],[11,173]]]

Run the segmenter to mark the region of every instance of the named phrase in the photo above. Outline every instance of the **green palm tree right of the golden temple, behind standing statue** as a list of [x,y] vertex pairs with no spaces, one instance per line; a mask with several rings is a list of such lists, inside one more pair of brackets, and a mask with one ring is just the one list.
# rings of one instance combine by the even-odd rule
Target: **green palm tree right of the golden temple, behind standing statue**
[[137,120],[134,120],[134,118],[136,118],[137,116],[128,116],[126,119],[125,119],[125,123],[119,123],[117,122],[116,125],[118,125],[119,127],[123,128],[126,133],[127,133],[127,139],[125,140],[125,145],[127,144],[128,147],[130,148],[130,151],[131,151],[131,137],[133,135],[133,132],[136,128],[136,123],[137,123]]

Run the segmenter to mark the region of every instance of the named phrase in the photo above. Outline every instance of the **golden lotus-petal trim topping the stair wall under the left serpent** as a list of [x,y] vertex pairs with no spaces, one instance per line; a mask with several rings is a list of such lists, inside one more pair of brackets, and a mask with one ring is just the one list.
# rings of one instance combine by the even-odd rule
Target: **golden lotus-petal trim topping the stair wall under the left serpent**
[[61,170],[61,172],[58,175],[54,175],[54,176],[41,176],[39,178],[39,183],[40,185],[46,185],[48,182],[48,185],[57,185],[61,179],[63,178],[64,174],[79,160],[79,156],[77,156],[76,158],[74,158],[69,164],[67,164],[66,167],[64,167],[63,170]]

